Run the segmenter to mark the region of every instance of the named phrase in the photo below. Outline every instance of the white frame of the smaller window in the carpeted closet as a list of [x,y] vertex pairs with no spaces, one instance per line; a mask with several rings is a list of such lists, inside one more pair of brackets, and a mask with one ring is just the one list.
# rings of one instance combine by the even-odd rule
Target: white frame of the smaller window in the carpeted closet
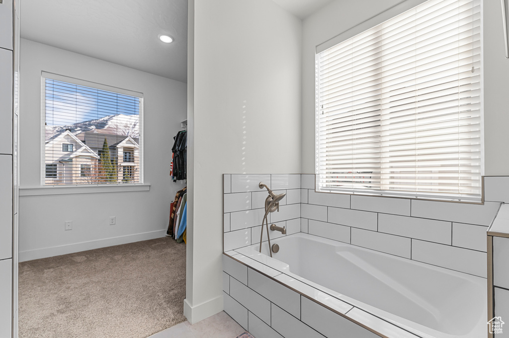
[[[92,88],[95,88],[95,89],[100,89],[100,90],[107,90],[107,91],[112,91],[114,93],[118,93],[118,94],[122,94],[122,95],[128,95],[128,96],[133,96],[133,97],[137,97],[139,98],[139,168],[138,168],[138,172],[139,172],[139,181],[138,182],[123,182],[122,180],[120,181],[117,181],[117,182],[111,182],[111,183],[91,183],[91,184],[67,184],[67,185],[47,185],[46,184],[46,175],[45,175],[45,163],[44,163],[44,160],[45,160],[45,144],[46,144],[46,138],[45,138],[45,132],[44,132],[44,128],[45,128],[45,122],[46,122],[46,79],[50,79],[50,80],[56,80],[56,81],[62,81],[62,82],[67,82],[67,83],[71,83],[71,84],[75,84],[75,85],[80,85],[80,86],[87,86],[87,87],[92,87]],[[77,79],[77,78],[74,78],[74,77],[69,77],[69,76],[64,76],[64,75],[60,75],[60,74],[55,74],[55,73],[49,73],[49,72],[41,72],[41,122],[40,122],[40,126],[41,126],[41,129],[42,129],[42,132],[41,132],[41,141],[40,141],[40,145],[41,145],[41,164],[40,164],[40,177],[41,177],[41,183],[40,183],[40,188],[42,189],[55,189],[55,188],[63,188],[63,189],[66,189],[68,191],[71,191],[71,188],[74,189],[74,188],[77,188],[78,190],[82,190],[83,192],[89,192],[91,189],[97,191],[97,192],[107,192],[108,191],[108,187],[111,187],[111,189],[115,189],[114,187],[126,187],[124,189],[129,189],[129,186],[133,187],[133,186],[144,186],[144,187],[150,187],[148,185],[145,184],[144,182],[144,158],[145,158],[145,151],[144,151],[144,147],[145,147],[145,142],[144,142],[144,136],[145,136],[145,132],[144,132],[144,94],[143,93],[140,93],[139,91],[134,91],[134,90],[129,90],[129,89],[124,89],[124,88],[121,88],[121,87],[115,87],[115,86],[111,86],[111,85],[106,85],[106,84],[101,84],[101,83],[97,83],[97,82],[93,82],[93,81],[88,81],[88,80],[82,80],[82,79]],[[98,155],[100,155],[98,153]],[[78,178],[82,177],[81,176],[81,173],[77,176]],[[54,179],[54,178],[53,178]],[[134,188],[134,187],[133,187]],[[139,189],[136,189],[136,190],[133,190],[133,191],[138,191]]]

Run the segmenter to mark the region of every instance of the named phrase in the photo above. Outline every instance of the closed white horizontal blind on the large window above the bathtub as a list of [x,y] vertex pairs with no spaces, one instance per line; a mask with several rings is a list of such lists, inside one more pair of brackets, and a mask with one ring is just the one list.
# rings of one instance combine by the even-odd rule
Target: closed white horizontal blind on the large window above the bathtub
[[480,200],[480,0],[430,0],[316,56],[320,190]]

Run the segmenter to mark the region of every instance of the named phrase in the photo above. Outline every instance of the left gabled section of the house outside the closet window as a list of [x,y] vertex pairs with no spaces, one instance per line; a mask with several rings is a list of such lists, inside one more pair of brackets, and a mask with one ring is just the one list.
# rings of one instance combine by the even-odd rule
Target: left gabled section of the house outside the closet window
[[92,171],[99,156],[69,130],[45,144],[45,184],[92,183]]

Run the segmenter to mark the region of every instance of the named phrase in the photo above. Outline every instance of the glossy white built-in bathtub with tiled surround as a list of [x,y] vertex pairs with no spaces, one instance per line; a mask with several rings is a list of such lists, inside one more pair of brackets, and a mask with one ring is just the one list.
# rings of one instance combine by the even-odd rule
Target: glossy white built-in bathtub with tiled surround
[[235,251],[418,336],[487,337],[486,279],[305,233],[274,243]]

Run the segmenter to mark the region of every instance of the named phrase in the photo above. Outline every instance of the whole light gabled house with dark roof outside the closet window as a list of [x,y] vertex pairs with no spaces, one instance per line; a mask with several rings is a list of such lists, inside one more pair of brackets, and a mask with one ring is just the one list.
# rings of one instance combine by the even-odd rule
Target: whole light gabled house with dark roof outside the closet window
[[116,180],[107,183],[139,181],[139,144],[130,136],[66,130],[46,141],[46,185],[104,183],[100,159],[104,140]]

